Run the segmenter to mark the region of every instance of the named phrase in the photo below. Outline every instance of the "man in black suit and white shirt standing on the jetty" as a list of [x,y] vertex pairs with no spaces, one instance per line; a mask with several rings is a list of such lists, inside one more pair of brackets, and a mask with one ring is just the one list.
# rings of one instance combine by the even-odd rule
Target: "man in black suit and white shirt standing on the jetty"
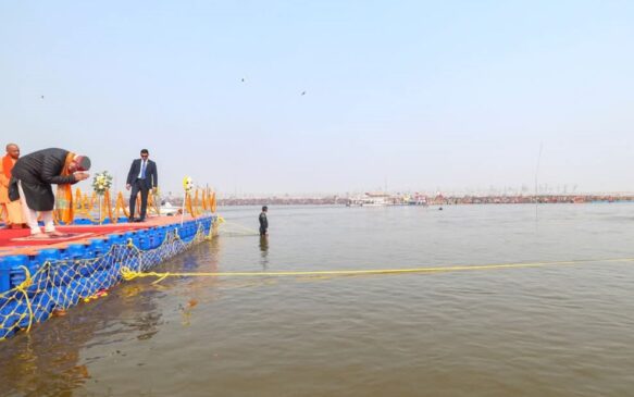
[[[127,173],[126,189],[130,189],[129,195],[129,221],[144,222],[146,220],[146,210],[148,207],[148,194],[150,189],[157,191],[159,185],[159,174],[157,172],[157,163],[149,160],[150,152],[148,149],[141,150],[141,158],[132,162],[129,172]],[[136,206],[137,195],[141,193],[141,211],[140,218],[134,218],[134,210]]]

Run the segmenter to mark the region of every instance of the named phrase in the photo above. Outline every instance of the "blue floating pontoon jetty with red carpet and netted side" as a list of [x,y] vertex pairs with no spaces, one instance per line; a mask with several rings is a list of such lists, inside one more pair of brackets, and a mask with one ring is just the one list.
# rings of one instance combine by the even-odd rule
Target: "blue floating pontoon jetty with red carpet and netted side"
[[[217,216],[149,218],[144,223],[58,226],[64,238],[29,239],[28,229],[0,231],[0,340],[94,298],[211,238]],[[89,303],[88,303],[89,305]],[[72,311],[70,312],[72,315]]]

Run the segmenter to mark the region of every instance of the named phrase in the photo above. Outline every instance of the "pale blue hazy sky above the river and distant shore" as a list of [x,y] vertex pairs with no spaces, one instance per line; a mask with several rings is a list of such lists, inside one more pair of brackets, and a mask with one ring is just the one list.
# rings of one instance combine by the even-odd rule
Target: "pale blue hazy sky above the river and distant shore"
[[120,188],[634,191],[633,129],[634,1],[0,0],[2,140]]

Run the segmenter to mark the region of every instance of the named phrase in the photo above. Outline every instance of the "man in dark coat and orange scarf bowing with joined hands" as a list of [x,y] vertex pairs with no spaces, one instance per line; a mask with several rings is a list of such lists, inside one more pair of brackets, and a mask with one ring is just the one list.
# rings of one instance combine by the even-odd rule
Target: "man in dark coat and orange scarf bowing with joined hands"
[[[73,193],[71,185],[87,179],[90,159],[64,149],[51,148],[21,157],[13,168],[9,186],[9,197],[20,198],[24,219],[30,227],[32,238],[64,236],[55,231],[53,208],[58,208],[58,219],[64,223],[73,221]],[[52,184],[58,185],[58,198]],[[45,222],[45,233],[37,224],[37,212]]]

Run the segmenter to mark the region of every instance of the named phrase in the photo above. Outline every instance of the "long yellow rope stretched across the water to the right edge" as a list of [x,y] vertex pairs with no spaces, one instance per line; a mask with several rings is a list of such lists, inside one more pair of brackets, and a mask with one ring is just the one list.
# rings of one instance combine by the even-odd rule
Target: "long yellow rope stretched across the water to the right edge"
[[520,269],[520,268],[538,268],[548,265],[563,264],[583,264],[592,262],[632,262],[634,258],[601,259],[601,260],[571,260],[556,262],[532,262],[532,263],[499,263],[482,265],[457,265],[457,266],[438,266],[438,268],[410,268],[410,269],[371,269],[371,270],[324,270],[324,271],[294,271],[294,272],[185,272],[185,273],[141,273],[122,268],[122,276],[126,281],[137,277],[159,277],[154,283],[159,283],[166,277],[229,277],[229,276],[313,276],[313,275],[370,275],[370,274],[405,274],[405,273],[440,273],[458,272],[470,270],[496,270],[496,269]]

